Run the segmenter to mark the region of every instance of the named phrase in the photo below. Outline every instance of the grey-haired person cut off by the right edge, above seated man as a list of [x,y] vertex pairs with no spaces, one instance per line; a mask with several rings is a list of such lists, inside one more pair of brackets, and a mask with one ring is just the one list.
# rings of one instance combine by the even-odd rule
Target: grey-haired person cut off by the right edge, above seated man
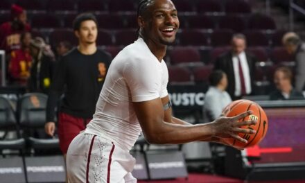
[[295,89],[302,92],[305,90],[305,43],[293,32],[286,33],[282,42],[286,51],[295,57]]

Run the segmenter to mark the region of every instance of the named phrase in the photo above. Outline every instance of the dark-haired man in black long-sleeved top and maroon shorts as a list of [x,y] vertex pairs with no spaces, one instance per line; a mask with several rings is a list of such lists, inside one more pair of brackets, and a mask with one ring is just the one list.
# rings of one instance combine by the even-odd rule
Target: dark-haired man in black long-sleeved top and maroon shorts
[[46,108],[45,130],[53,136],[55,107],[64,94],[58,110],[58,135],[64,156],[72,139],[92,119],[111,62],[110,55],[96,47],[98,25],[94,15],[78,15],[73,29],[79,44],[58,61]]

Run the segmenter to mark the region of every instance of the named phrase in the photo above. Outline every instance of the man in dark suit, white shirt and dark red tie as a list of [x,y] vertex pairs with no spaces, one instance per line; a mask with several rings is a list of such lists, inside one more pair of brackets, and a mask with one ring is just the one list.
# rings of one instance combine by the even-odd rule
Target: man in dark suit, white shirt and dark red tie
[[245,35],[233,35],[232,51],[220,55],[214,65],[214,69],[223,70],[227,74],[227,92],[233,100],[253,92],[256,58],[245,52],[245,48]]

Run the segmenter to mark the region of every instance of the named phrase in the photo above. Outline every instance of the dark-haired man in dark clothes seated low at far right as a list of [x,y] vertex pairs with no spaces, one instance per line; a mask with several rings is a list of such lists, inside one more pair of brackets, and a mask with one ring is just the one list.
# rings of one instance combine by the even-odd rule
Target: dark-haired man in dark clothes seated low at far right
[[270,94],[270,100],[298,100],[304,99],[302,93],[293,88],[293,73],[288,67],[279,67],[275,70],[274,82],[277,90]]

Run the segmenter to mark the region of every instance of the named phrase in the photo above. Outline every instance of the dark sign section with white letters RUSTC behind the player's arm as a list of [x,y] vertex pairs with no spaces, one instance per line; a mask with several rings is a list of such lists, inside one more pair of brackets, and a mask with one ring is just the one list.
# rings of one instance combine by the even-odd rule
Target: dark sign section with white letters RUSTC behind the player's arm
[[202,108],[206,86],[201,85],[168,85],[168,96],[173,107]]

